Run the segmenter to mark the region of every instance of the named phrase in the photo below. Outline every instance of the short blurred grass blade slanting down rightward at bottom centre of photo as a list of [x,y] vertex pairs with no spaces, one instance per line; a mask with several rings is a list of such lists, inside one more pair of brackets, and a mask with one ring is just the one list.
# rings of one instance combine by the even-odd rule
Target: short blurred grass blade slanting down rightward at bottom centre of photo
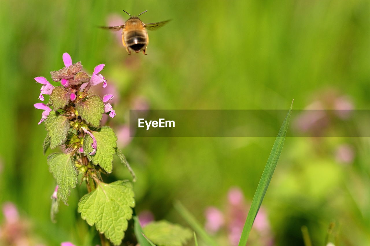
[[180,201],[176,201],[174,203],[174,207],[206,244],[217,246],[217,243],[208,235],[208,233],[205,232],[201,224],[195,219],[194,215],[192,215]]

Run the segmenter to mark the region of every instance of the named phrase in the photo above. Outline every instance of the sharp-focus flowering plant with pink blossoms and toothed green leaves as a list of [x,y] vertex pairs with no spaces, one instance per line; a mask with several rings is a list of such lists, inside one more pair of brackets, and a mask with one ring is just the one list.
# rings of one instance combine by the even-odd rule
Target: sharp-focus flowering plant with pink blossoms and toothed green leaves
[[60,201],[67,204],[70,191],[81,174],[81,182],[86,182],[88,194],[78,202],[78,212],[89,225],[95,224],[114,245],[120,245],[128,220],[132,218],[131,208],[135,206],[135,200],[131,182],[106,184],[101,177],[102,173],[112,171],[114,154],[128,167],[126,158],[117,148],[114,131],[109,126],[100,126],[104,113],[115,116],[108,103],[113,95],[101,98],[89,93],[92,86],[101,83],[104,88],[107,86],[100,74],[104,64],[97,65],[92,75],[88,75],[82,71],[81,62],[72,63],[68,53],[63,54],[63,61],[64,68],[50,72],[52,80],[60,82],[60,86],[53,86],[44,77],[35,78],[42,84],[39,99],[44,101],[43,95],[50,95],[47,104],[34,104],[37,109],[44,110],[38,123],[44,122],[47,131],[44,153],[49,147],[64,148],[64,153],[51,153],[47,157],[49,170],[57,182],[51,197],[51,218],[55,220]]

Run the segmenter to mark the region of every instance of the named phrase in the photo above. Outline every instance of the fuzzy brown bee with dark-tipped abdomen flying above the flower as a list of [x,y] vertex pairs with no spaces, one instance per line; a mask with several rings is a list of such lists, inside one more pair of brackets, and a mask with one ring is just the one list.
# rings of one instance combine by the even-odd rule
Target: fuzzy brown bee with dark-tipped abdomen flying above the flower
[[[144,14],[147,11],[148,10],[145,10],[141,14]],[[124,12],[127,13],[126,11]],[[142,51],[144,55],[147,55],[145,54],[149,43],[147,30],[155,30],[158,27],[163,27],[170,20],[145,24],[139,19],[141,14],[138,16],[131,16],[129,13],[127,14],[130,16],[130,18],[125,22],[125,24],[102,28],[107,28],[114,31],[122,30],[122,44],[126,48],[126,51],[129,55],[131,55],[131,51],[136,53]]]

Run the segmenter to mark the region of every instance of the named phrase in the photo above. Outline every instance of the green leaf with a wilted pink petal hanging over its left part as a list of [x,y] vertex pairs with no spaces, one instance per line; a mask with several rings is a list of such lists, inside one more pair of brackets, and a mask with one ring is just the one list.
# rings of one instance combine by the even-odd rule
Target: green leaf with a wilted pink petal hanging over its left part
[[89,134],[85,135],[84,138],[84,153],[87,158],[92,161],[94,165],[100,165],[106,172],[112,171],[113,154],[115,153],[115,147],[117,147],[117,137],[114,131],[109,126],[103,126],[97,131],[91,131],[97,141],[96,153],[90,156],[89,153],[92,151],[92,138]]

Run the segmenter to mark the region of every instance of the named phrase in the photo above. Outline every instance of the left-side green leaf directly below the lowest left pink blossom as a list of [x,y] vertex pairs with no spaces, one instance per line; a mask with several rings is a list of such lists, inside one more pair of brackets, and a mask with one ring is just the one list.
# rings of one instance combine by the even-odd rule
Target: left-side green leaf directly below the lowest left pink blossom
[[62,145],[67,140],[70,122],[67,117],[51,111],[45,120],[45,129],[50,137],[50,148]]

